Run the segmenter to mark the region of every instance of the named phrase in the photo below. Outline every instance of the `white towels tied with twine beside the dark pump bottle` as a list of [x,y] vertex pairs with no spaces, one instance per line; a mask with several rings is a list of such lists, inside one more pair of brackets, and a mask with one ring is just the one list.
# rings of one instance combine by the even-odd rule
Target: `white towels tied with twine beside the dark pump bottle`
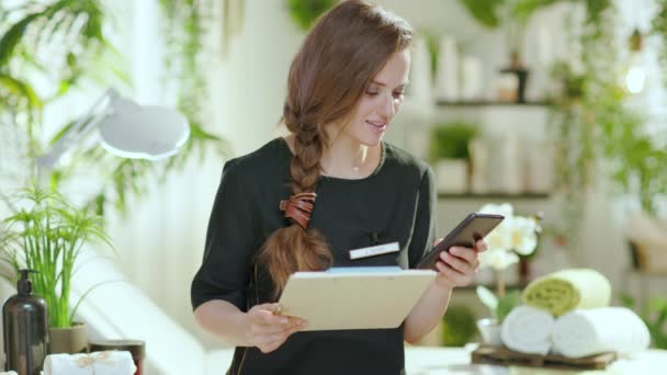
[[126,351],[49,354],[44,360],[44,375],[132,375],[136,370]]

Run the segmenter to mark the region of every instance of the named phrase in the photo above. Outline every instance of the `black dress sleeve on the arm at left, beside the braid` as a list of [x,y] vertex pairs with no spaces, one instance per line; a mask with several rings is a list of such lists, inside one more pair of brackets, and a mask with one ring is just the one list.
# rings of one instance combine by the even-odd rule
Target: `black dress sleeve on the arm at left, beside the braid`
[[246,310],[246,289],[251,257],[257,243],[257,225],[248,203],[240,167],[225,164],[215,195],[202,265],[192,281],[192,308],[223,299]]

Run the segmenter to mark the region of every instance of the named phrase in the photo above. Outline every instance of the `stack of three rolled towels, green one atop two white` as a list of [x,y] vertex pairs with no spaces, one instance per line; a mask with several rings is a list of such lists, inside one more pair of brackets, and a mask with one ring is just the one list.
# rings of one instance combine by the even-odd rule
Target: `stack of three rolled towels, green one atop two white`
[[637,315],[609,307],[611,285],[595,270],[564,270],[530,283],[523,305],[502,322],[502,343],[530,354],[581,357],[602,352],[632,355],[646,350],[651,336]]

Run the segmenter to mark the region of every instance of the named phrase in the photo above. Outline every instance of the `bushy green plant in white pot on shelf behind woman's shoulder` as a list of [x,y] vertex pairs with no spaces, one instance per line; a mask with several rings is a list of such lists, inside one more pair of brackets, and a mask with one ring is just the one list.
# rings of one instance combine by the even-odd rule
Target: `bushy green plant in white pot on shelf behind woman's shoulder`
[[477,127],[464,121],[436,125],[429,145],[438,191],[465,193],[470,181],[468,145],[477,135]]

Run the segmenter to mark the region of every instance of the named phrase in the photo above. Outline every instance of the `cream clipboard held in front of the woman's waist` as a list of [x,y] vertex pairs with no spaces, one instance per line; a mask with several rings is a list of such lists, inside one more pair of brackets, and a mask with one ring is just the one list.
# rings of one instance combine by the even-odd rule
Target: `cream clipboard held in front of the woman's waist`
[[392,266],[296,272],[279,300],[280,315],[306,319],[304,331],[396,328],[436,275]]

